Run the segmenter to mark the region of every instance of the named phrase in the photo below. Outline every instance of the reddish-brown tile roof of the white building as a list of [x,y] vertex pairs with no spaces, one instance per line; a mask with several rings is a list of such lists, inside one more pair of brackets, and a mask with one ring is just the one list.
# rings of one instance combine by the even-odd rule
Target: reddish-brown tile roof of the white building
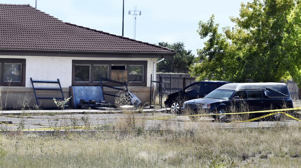
[[29,4],[0,4],[0,49],[173,53],[173,50],[63,22]]

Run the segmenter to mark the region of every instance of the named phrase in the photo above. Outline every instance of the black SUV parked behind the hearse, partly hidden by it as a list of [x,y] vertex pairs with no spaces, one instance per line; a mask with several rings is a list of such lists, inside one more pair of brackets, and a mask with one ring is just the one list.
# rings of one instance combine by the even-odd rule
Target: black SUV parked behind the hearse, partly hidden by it
[[[170,108],[172,112],[177,113],[180,109],[180,104],[187,100],[202,98],[216,88],[228,84],[227,81],[199,81],[188,85],[184,89],[171,93],[167,96],[164,102],[165,107]],[[182,103],[181,103],[182,102]]]

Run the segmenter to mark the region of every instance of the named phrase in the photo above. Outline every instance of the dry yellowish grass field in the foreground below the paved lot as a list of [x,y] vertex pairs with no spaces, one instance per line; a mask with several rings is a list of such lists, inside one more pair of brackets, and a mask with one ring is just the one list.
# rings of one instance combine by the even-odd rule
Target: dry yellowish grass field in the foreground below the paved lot
[[301,127],[135,127],[55,135],[8,132],[0,136],[0,167],[298,167],[301,160]]

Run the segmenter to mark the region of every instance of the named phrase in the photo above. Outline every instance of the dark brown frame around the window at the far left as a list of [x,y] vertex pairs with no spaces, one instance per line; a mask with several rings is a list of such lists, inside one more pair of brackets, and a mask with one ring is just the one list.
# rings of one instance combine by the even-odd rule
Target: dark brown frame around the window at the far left
[[[4,79],[4,64],[21,64],[21,81],[12,81],[10,84]],[[26,82],[26,59],[20,58],[0,58],[0,86],[3,87],[25,87]]]

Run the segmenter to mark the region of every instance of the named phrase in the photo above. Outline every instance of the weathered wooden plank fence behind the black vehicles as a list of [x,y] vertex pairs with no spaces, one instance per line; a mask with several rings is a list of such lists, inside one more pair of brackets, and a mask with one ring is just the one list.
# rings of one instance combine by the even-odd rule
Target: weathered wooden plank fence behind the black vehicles
[[[157,80],[159,81],[159,75],[163,76],[164,81],[169,81],[171,77],[171,92],[176,92],[183,89],[184,87],[195,82],[195,78],[191,77],[190,74],[176,74],[176,73],[157,73]],[[287,84],[288,90],[290,91],[290,96],[292,99],[300,99],[301,90],[297,86],[297,83],[293,81],[285,82]],[[158,85],[159,86],[159,85]],[[169,90],[169,84],[163,84],[166,90]]]

